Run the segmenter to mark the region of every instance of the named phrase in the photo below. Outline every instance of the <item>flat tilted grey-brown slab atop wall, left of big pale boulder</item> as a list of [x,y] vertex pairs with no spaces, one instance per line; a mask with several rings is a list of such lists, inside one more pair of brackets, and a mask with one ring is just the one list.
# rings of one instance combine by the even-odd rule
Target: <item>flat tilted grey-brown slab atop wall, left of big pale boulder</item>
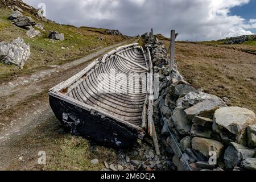
[[204,100],[202,102],[189,107],[188,109],[184,110],[187,114],[188,119],[192,121],[192,119],[199,115],[201,117],[206,118],[213,118],[214,111],[221,107],[226,107],[226,104],[222,100]]

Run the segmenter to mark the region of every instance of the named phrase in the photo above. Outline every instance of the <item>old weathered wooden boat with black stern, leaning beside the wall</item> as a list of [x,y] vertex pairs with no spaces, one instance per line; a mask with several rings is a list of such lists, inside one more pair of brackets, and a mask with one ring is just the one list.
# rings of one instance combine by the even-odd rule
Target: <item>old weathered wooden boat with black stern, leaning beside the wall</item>
[[147,73],[152,73],[148,49],[118,47],[49,90],[49,103],[72,134],[127,148],[147,130],[152,133],[153,77]]

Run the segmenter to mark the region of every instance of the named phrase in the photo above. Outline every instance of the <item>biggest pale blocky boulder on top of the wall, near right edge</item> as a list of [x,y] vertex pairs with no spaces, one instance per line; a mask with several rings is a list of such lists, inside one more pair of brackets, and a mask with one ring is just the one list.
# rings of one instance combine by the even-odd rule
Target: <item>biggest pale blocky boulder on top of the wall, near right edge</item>
[[214,113],[213,130],[225,143],[233,141],[246,146],[246,128],[255,123],[255,113],[249,109],[222,107]]

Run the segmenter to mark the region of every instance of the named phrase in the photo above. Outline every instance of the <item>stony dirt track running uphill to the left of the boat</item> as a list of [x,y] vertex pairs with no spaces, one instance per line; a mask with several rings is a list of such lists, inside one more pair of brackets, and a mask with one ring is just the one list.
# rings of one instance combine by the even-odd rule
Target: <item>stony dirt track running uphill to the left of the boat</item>
[[54,140],[55,134],[63,132],[49,107],[48,90],[105,52],[128,43],[131,40],[3,83],[0,86],[0,170],[38,169],[35,167],[37,152],[51,148],[44,141]]

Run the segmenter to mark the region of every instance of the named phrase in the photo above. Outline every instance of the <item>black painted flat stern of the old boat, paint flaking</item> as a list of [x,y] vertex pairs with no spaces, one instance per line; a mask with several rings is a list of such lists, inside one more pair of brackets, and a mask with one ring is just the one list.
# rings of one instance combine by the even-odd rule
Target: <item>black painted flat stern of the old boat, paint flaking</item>
[[129,148],[137,142],[137,130],[113,118],[93,115],[53,96],[49,96],[49,104],[57,119],[71,134],[85,137],[106,147]]

